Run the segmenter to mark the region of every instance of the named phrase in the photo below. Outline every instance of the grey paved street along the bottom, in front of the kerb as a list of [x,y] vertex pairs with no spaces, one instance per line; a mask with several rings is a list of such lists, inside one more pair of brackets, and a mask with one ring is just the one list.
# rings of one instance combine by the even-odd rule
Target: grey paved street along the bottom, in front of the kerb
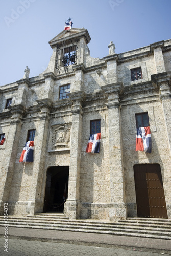
[[155,253],[120,248],[105,248],[68,243],[53,243],[8,239],[8,252],[3,248],[4,239],[0,239],[0,255],[4,256],[158,256],[171,254]]

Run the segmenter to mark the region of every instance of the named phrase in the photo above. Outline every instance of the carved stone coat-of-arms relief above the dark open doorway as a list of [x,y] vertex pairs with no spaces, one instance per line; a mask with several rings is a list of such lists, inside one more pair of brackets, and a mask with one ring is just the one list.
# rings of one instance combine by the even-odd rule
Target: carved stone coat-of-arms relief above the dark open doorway
[[55,126],[52,131],[53,148],[69,148],[70,147],[70,127],[65,125]]

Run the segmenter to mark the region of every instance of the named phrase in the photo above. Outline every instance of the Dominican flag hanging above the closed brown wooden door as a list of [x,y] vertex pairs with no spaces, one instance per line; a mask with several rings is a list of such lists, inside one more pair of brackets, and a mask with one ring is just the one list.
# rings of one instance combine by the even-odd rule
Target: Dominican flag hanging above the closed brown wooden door
[[136,151],[152,152],[152,139],[150,133],[150,127],[137,128],[136,136]]

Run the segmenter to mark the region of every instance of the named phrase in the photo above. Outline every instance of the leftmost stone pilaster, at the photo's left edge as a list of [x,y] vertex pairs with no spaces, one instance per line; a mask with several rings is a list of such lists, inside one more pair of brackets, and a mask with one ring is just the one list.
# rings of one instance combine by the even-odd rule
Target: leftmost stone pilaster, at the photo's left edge
[[[24,114],[24,108],[22,105],[15,105],[9,107],[10,113],[12,115],[10,120],[10,130],[6,133],[4,150],[3,150],[3,159],[2,159],[2,168],[1,168],[1,184],[0,186],[0,214],[4,214],[4,203],[8,202],[9,193],[11,189],[11,183],[13,178],[14,166],[17,156],[17,150],[19,138],[21,134],[22,126],[22,115]],[[7,127],[5,127],[7,129]],[[9,212],[10,213],[10,212]]]

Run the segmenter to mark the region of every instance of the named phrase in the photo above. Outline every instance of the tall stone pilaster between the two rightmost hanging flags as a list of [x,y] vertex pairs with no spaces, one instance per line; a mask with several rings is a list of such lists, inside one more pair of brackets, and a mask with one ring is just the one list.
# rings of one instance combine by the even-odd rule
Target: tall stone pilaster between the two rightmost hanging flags
[[111,204],[110,220],[126,218],[125,184],[123,170],[122,138],[120,127],[119,93],[123,88],[121,83],[108,84],[101,87],[107,93],[109,118],[109,157],[110,157],[110,191]]

